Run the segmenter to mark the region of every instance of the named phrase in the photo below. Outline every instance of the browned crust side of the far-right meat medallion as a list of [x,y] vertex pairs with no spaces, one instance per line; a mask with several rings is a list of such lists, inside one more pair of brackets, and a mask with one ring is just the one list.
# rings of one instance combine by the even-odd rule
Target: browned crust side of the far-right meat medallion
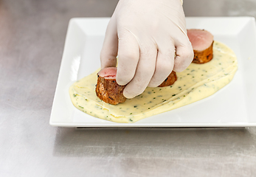
[[213,57],[213,55],[212,55],[213,42],[214,41],[212,41],[212,45],[208,49],[205,49],[203,51],[194,50],[193,63],[202,64],[202,63],[207,63],[210,60],[212,60],[212,57]]

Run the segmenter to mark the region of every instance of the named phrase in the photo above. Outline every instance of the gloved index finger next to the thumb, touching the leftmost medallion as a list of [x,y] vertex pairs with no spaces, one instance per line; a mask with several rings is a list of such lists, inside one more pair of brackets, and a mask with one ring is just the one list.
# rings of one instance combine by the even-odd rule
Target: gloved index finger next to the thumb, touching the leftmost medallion
[[117,83],[120,86],[129,83],[136,72],[139,61],[139,44],[136,37],[128,31],[119,33]]

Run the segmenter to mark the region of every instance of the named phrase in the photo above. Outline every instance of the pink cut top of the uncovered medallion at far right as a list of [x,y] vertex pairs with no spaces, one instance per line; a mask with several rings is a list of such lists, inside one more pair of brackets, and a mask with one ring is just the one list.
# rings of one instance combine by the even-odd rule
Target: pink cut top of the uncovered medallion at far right
[[207,30],[187,30],[193,50],[203,51],[212,45],[213,35]]

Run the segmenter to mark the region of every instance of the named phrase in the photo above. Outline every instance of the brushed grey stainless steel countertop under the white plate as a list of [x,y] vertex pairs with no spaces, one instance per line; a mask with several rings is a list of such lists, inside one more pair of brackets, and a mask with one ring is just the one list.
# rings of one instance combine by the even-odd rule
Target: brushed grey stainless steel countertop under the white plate
[[[70,18],[117,0],[0,0],[0,176],[256,176],[256,128],[54,128]],[[256,1],[184,0],[187,16],[256,16]]]

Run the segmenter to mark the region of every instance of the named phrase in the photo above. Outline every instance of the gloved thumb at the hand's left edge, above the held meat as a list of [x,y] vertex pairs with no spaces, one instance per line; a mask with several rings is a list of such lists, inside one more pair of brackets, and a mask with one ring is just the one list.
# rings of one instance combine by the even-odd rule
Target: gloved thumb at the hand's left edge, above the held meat
[[117,37],[117,24],[114,17],[108,23],[103,42],[103,48],[100,52],[101,69],[106,67],[117,66],[117,50],[118,50],[118,37]]

